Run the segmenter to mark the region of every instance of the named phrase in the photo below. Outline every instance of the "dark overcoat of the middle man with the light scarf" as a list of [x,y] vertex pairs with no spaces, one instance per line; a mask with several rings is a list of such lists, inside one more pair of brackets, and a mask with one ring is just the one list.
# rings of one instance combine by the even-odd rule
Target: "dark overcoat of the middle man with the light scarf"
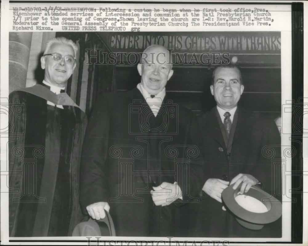
[[[195,182],[190,182],[189,187],[185,185],[187,179],[175,172],[186,155],[183,149],[187,147],[191,121],[190,110],[173,104],[168,94],[157,117],[137,88],[100,97],[91,114],[83,145],[82,208],[108,202],[117,236],[179,233],[175,228],[180,224],[176,221],[180,216],[176,213],[181,214],[180,210],[186,208],[176,208],[174,204],[155,206],[149,192],[164,181],[176,181],[184,200],[197,196],[202,185],[201,181],[197,182],[201,180],[199,168],[202,166],[191,168],[188,177]],[[149,171],[157,172],[149,174]]]

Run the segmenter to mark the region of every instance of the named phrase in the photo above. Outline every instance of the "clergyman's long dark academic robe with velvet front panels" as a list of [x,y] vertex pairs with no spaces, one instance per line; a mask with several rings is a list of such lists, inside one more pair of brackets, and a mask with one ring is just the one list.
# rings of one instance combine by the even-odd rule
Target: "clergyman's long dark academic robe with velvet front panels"
[[42,85],[9,99],[10,236],[71,236],[82,219],[79,164],[87,117],[66,93]]

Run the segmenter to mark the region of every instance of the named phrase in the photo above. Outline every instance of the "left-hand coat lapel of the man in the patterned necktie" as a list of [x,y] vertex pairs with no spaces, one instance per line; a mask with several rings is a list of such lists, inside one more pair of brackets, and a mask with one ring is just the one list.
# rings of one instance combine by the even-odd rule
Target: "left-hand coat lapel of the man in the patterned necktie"
[[209,111],[208,115],[202,115],[200,117],[200,125],[225,149],[225,141],[216,116],[216,110],[215,106]]

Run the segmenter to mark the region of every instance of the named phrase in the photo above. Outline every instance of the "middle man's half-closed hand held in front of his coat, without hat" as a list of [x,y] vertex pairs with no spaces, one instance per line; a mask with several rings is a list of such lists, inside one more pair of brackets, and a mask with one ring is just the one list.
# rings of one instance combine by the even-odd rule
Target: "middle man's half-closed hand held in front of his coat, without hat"
[[151,195],[156,206],[164,207],[179,199],[182,196],[182,192],[176,182],[174,184],[163,182],[161,185],[153,187]]

